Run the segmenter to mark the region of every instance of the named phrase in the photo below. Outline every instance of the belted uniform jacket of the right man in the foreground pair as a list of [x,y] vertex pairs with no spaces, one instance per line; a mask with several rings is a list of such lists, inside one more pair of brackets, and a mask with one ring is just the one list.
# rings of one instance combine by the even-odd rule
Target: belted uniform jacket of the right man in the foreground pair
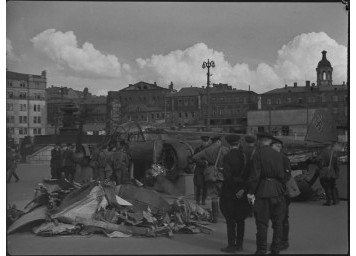
[[271,147],[257,149],[249,178],[249,194],[260,198],[284,195],[287,181],[285,163],[283,154]]

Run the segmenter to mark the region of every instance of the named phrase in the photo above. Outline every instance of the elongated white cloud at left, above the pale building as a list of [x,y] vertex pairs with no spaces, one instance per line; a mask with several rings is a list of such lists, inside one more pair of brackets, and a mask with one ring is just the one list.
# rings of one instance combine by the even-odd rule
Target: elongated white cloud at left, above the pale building
[[[72,74],[95,78],[118,78],[122,75],[122,65],[115,55],[105,55],[89,42],[79,47],[73,31],[63,33],[47,29],[33,37],[31,42],[36,50]],[[123,68],[130,70],[128,64]]]

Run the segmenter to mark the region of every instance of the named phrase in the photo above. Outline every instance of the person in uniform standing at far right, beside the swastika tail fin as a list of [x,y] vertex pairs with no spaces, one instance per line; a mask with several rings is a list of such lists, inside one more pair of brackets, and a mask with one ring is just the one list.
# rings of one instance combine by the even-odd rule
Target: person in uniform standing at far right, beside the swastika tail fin
[[334,144],[328,144],[318,156],[318,172],[320,184],[325,191],[326,202],[324,206],[339,203],[339,193],[336,187],[336,179],[339,177],[339,166],[334,154]]

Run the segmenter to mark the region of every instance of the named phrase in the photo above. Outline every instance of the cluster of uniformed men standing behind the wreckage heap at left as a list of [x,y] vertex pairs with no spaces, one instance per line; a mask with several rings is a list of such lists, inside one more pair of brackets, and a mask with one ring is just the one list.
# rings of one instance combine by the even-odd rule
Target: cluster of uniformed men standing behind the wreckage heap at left
[[130,181],[131,158],[128,145],[120,140],[99,144],[88,155],[85,150],[75,150],[70,143],[66,147],[57,143],[51,151],[51,178],[66,178],[69,181],[85,183],[101,180],[117,184]]

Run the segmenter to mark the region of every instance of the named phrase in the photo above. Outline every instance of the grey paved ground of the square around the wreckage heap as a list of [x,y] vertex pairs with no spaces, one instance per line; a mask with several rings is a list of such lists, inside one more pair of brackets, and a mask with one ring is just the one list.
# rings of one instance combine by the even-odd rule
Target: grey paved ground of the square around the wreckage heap
[[[22,209],[33,197],[34,188],[42,178],[49,177],[49,167],[21,165],[21,180],[7,186],[7,203]],[[290,248],[286,254],[345,254],[348,252],[348,202],[322,207],[322,202],[292,203],[290,207]],[[174,234],[173,238],[106,238],[38,237],[31,232],[7,237],[11,255],[103,255],[103,254],[222,254],[226,245],[224,218],[211,224],[211,234]],[[256,227],[253,218],[246,220],[244,251],[255,251]],[[271,233],[269,233],[269,241]]]

